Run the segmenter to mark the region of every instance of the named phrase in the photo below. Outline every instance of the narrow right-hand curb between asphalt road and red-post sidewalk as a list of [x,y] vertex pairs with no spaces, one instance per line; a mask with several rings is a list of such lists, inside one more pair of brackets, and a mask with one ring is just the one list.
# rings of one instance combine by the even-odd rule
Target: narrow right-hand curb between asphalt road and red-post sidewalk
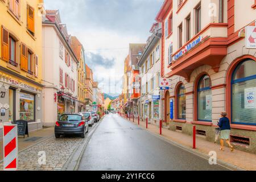
[[[125,118],[123,118],[123,119],[125,119]],[[125,119],[125,120],[128,121],[128,122],[131,122],[131,121],[129,121],[129,119]],[[133,123],[133,122],[131,122],[131,123]],[[208,156],[207,154],[204,154],[204,153],[202,153],[202,152],[193,150],[192,148],[189,148],[189,147],[187,147],[187,146],[184,146],[183,144],[180,144],[180,143],[177,143],[177,142],[175,142],[175,141],[173,141],[173,140],[167,139],[167,138],[163,137],[163,135],[158,135],[158,134],[152,133],[151,131],[146,130],[144,127],[141,127],[141,125],[137,125],[137,123],[133,123],[133,124],[134,124],[135,126],[140,127],[141,129],[143,129],[143,130],[146,131],[147,133],[150,133],[151,135],[154,135],[155,137],[158,137],[159,139],[162,139],[162,140],[164,140],[165,142],[168,142],[168,143],[170,143],[170,144],[173,144],[174,146],[179,147],[179,148],[181,148],[181,149],[183,149],[183,150],[185,150],[185,151],[187,151],[187,152],[189,152],[189,153],[191,153],[191,154],[197,155],[197,156],[199,156],[200,158],[203,158],[203,159],[205,159],[205,160],[208,160],[208,159],[209,159],[209,156]],[[243,168],[238,167],[238,166],[235,166],[235,165],[233,165],[233,164],[224,162],[223,160],[220,160],[220,159],[217,159],[217,165],[219,165],[219,166],[221,166],[221,167],[224,167],[224,168],[227,168],[227,169],[229,169],[229,170],[231,170],[231,171],[234,171],[234,170],[237,170],[237,171],[247,171],[246,169],[243,169]]]

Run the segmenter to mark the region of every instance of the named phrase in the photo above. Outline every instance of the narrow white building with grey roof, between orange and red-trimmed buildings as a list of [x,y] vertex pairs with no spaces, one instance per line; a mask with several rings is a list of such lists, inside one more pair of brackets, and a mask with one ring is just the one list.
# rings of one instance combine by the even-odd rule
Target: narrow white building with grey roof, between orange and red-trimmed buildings
[[160,95],[160,47],[162,38],[162,29],[159,27],[159,23],[154,23],[150,32],[152,35],[148,38],[147,45],[138,63],[141,73],[141,97],[139,99],[141,110],[139,113],[141,118],[147,118],[148,122],[159,125],[162,110],[162,102],[158,97]]

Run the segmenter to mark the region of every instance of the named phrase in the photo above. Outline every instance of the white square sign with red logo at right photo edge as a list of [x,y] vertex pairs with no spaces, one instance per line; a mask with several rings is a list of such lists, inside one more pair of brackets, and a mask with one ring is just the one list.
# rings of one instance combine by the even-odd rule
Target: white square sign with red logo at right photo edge
[[245,28],[246,48],[256,49],[256,26],[247,26]]

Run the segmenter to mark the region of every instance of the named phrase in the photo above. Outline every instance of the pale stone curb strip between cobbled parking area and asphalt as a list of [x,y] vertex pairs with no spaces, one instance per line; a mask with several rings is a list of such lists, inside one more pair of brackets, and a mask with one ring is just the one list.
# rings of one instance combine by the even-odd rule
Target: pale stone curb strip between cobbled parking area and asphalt
[[82,158],[82,155],[84,154],[85,148],[88,145],[90,138],[92,138],[92,135],[94,131],[100,126],[100,123],[102,122],[102,119],[97,123],[95,127],[88,133],[85,140],[81,140],[81,142],[78,144],[78,146],[73,150],[72,155],[69,157],[67,162],[64,164],[61,171],[77,171],[77,169],[80,166],[80,161]]

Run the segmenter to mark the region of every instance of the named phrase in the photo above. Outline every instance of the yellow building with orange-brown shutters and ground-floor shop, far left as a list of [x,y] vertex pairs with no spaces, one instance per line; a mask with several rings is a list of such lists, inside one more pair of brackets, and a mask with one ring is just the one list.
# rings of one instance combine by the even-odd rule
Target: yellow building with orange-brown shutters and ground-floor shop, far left
[[[0,1],[0,120],[42,128],[43,0]],[[53,99],[53,98],[52,98]]]

